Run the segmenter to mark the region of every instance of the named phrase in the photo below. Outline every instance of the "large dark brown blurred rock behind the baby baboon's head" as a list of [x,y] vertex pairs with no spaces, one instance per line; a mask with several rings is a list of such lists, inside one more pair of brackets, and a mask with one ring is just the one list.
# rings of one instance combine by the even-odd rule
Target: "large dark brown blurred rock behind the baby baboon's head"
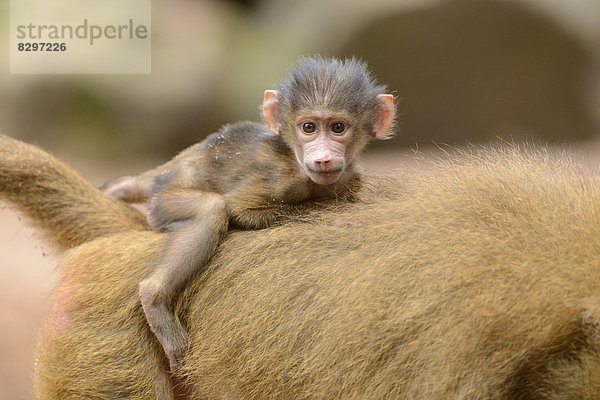
[[396,145],[568,142],[598,133],[586,87],[598,72],[593,56],[516,2],[460,0],[390,15],[339,54],[368,60],[396,91]]

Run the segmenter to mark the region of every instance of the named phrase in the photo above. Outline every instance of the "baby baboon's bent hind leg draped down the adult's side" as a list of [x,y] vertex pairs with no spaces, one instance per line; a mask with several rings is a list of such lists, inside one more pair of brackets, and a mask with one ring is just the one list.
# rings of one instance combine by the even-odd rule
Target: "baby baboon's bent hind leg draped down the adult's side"
[[229,213],[218,194],[177,189],[152,199],[149,219],[169,233],[156,269],[140,284],[140,299],[150,328],[175,368],[188,343],[173,302],[215,252],[227,231]]

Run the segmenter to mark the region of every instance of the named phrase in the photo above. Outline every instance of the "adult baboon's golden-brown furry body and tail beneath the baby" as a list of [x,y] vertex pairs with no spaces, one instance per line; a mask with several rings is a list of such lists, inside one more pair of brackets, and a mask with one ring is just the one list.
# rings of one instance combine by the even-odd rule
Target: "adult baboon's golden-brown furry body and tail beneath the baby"
[[[6,137],[0,197],[73,247],[39,397],[171,398],[137,297],[163,235]],[[176,377],[197,398],[600,399],[597,176],[479,151],[324,208],[229,233],[181,296]]]

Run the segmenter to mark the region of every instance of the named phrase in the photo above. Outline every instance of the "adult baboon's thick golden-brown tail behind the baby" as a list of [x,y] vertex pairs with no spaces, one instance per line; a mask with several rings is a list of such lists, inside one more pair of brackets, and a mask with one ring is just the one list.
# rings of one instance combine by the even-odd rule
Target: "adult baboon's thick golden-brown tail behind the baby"
[[0,135],[0,200],[30,217],[62,249],[146,229],[144,216],[133,207],[104,196],[43,150],[4,135]]

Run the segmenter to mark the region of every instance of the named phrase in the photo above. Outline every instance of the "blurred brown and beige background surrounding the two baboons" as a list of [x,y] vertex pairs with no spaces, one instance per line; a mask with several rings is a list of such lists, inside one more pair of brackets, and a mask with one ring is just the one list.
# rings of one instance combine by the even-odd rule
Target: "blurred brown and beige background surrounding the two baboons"
[[[597,172],[598,0],[154,0],[152,15],[151,75],[9,75],[0,0],[0,132],[101,183],[257,120],[300,55],[357,56],[398,98],[398,135],[371,146],[371,171],[506,140],[566,146]],[[0,400],[33,398],[56,279],[40,243],[0,204]]]

